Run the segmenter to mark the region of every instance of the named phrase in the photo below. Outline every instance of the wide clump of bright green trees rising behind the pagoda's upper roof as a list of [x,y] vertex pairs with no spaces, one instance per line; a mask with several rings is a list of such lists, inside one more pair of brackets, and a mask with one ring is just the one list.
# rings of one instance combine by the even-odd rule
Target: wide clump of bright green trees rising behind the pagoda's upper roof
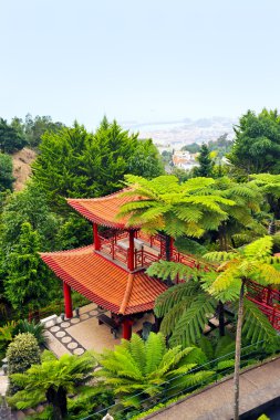
[[77,123],[72,128],[45,133],[33,164],[33,179],[45,191],[52,208],[64,211],[65,197],[90,198],[122,187],[128,171],[153,177],[163,168],[155,146],[138,140],[116,123],[103,119],[90,134]]

